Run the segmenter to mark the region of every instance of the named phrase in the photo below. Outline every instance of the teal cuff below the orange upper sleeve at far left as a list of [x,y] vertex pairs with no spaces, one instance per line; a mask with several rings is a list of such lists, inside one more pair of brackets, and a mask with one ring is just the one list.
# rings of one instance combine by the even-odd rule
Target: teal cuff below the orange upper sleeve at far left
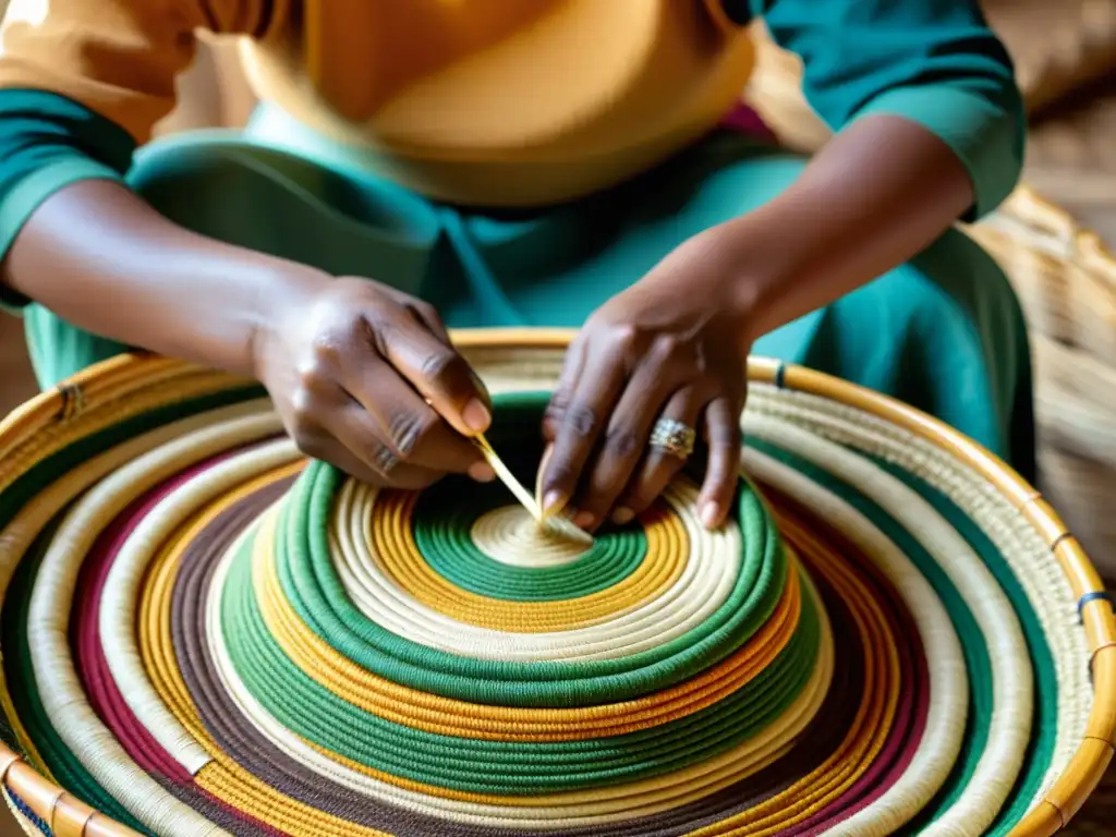
[[[135,147],[124,128],[65,96],[0,90],[0,260],[47,198],[81,180],[122,181]],[[0,282],[0,306],[26,304]]]

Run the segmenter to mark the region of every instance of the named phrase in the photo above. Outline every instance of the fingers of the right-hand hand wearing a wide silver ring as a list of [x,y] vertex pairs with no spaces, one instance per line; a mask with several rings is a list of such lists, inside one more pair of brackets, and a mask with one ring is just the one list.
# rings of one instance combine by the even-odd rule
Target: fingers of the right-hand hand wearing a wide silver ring
[[[583,331],[583,335],[586,331]],[[648,448],[661,419],[710,439],[700,497],[702,521],[723,523],[739,480],[743,371],[718,353],[676,340],[626,352],[624,340],[579,339],[568,353],[543,417],[549,442],[539,493],[547,513],[571,507],[574,522],[594,530],[606,518],[624,525],[658,497],[685,461]]]

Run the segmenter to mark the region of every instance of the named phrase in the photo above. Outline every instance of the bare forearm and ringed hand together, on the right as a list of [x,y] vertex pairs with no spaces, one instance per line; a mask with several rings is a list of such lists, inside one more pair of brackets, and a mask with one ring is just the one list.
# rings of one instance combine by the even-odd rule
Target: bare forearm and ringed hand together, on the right
[[873,116],[834,137],[779,198],[682,244],[597,309],[570,347],[543,423],[543,508],[570,502],[588,530],[646,509],[683,465],[646,444],[662,415],[704,434],[699,513],[720,526],[756,339],[910,260],[973,200],[941,140]]

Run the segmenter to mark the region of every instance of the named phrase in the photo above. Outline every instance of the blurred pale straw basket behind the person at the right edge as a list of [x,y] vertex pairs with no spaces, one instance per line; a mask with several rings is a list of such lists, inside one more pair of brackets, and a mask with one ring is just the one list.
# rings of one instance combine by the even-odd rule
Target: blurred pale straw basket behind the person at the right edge
[[1033,329],[1041,489],[1116,579],[1116,258],[1026,187],[970,233],[1004,267]]

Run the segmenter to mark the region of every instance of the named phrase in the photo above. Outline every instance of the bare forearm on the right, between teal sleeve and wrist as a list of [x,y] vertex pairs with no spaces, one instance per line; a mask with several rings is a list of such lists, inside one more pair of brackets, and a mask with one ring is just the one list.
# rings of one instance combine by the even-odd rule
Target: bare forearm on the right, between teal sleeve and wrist
[[782,195],[714,232],[751,312],[748,338],[910,260],[973,200],[965,166],[930,131],[897,116],[858,121]]

